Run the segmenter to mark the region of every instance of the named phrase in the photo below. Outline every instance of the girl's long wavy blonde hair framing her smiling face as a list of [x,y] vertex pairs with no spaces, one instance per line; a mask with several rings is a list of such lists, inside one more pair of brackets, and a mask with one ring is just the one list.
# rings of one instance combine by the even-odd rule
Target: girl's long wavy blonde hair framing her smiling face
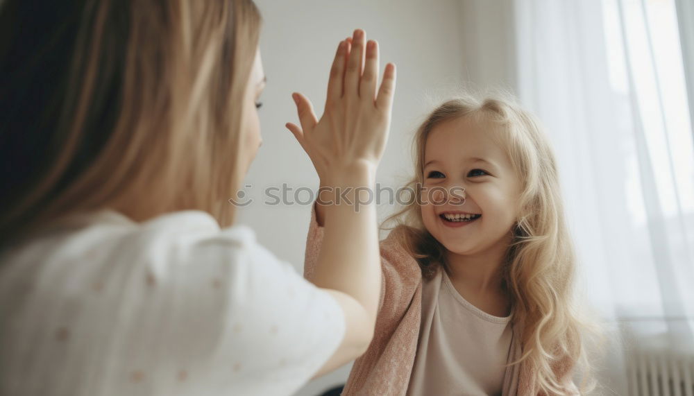
[[[415,176],[407,187],[421,193],[425,144],[445,121],[475,117],[500,131],[516,175],[523,183],[522,212],[510,232],[514,239],[502,263],[503,284],[514,304],[514,326],[521,329],[523,354],[516,362],[527,370],[537,393],[561,394],[559,379],[580,366],[584,392],[595,388],[582,333],[600,336],[588,316],[579,315],[573,296],[576,257],[564,220],[557,164],[539,121],[509,94],[486,98],[466,93],[436,107],[414,137]],[[419,198],[419,197],[416,197]],[[425,278],[446,265],[446,248],[423,225],[419,199],[384,221],[421,266]],[[389,226],[390,225],[390,226]]]

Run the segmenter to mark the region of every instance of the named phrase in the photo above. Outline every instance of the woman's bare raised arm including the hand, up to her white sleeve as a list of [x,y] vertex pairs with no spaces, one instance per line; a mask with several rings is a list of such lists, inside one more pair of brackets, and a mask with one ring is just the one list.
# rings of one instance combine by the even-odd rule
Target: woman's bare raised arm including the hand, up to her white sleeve
[[335,298],[345,318],[344,339],[318,375],[366,352],[382,285],[375,203],[357,198],[368,192],[362,187],[373,187],[388,139],[395,67],[387,65],[377,93],[378,44],[364,36],[357,29],[351,42],[340,43],[321,120],[307,98],[293,94],[301,128],[287,123],[321,177],[314,208],[325,229],[310,281]]

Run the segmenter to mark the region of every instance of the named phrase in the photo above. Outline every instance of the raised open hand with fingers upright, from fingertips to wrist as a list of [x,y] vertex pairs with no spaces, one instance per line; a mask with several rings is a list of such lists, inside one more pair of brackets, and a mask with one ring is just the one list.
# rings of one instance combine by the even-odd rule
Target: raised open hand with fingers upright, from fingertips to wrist
[[321,119],[305,96],[292,94],[301,128],[286,126],[321,180],[354,166],[366,165],[375,172],[388,139],[396,83],[395,65],[389,63],[377,92],[378,69],[378,42],[366,42],[366,33],[357,29],[338,46]]

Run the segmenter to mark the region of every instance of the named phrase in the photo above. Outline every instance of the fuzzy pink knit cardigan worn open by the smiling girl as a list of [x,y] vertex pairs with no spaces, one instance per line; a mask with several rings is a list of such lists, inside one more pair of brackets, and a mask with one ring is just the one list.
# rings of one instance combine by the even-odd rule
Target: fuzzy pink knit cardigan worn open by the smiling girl
[[[316,223],[315,207],[306,241],[304,276],[312,280],[316,259],[323,241],[323,227]],[[382,265],[381,297],[373,341],[354,363],[342,395],[405,396],[419,338],[422,310],[422,274],[414,258],[393,235],[380,242]],[[514,327],[514,339],[520,340]],[[511,348],[511,359],[521,356],[520,343]],[[570,359],[554,365],[559,378],[565,379],[566,395],[579,395],[571,381]],[[531,372],[521,368],[507,370],[503,396],[532,396]]]

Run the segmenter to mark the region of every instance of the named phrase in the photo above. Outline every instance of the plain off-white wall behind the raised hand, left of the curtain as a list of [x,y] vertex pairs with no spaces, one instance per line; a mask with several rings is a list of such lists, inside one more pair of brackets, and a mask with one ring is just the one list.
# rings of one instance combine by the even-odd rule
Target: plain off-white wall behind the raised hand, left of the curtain
[[[367,38],[378,40],[381,70],[386,62],[394,62],[398,85],[391,135],[377,181],[398,187],[410,174],[412,134],[432,101],[454,92],[467,80],[476,86],[512,81],[509,49],[505,35],[498,31],[507,26],[506,14],[500,12],[502,5],[489,6],[482,0],[256,3],[264,18],[260,47],[268,84],[260,110],[263,145],[246,178],[246,184],[253,186],[246,192],[255,203],[240,210],[239,221],[251,225],[264,246],[301,271],[310,206],[262,204],[265,187],[285,182],[295,189],[318,187],[310,160],[284,127],[287,121],[298,121],[291,92],[306,94],[320,117],[337,43],[355,28],[363,28]],[[477,14],[486,19],[477,19]],[[484,46],[495,50],[477,56],[474,52]],[[306,199],[307,193],[301,198]],[[381,205],[380,218],[392,209]],[[318,395],[332,384],[343,383],[349,368],[313,381],[297,395]]]

